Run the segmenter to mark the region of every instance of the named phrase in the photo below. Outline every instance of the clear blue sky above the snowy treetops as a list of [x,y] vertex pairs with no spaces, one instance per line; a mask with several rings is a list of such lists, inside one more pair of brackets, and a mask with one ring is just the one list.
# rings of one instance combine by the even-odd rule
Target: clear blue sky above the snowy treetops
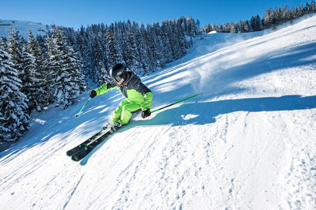
[[130,19],[139,24],[143,21],[173,19],[181,15],[191,15],[199,19],[201,26],[207,23],[234,22],[250,19],[252,15],[264,15],[266,8],[288,5],[305,6],[311,0],[265,0],[265,1],[101,1],[101,0],[50,0],[50,1],[21,1],[4,0],[0,3],[0,19],[29,20],[57,25],[70,26],[75,29],[81,24],[87,26],[92,23],[110,24],[114,21]]

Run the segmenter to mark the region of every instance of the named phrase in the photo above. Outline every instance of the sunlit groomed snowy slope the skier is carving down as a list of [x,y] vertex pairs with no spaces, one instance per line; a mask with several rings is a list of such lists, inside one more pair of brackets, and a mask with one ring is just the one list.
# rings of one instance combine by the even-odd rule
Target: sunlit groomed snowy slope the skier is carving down
[[152,110],[202,95],[138,115],[79,163],[66,151],[123,97],[97,96],[78,118],[88,94],[33,115],[0,153],[0,208],[316,208],[315,34],[316,16],[224,48],[208,44],[227,34],[210,34],[188,60],[143,78]]

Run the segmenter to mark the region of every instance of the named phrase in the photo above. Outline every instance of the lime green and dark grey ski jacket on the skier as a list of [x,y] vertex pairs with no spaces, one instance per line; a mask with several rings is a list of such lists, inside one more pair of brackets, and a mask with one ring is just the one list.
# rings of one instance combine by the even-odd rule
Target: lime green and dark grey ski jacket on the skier
[[142,106],[142,111],[146,109],[150,110],[151,102],[153,101],[153,93],[142,83],[137,75],[128,69],[126,71],[127,78],[122,85],[118,85],[112,80],[95,89],[97,96],[117,88],[128,102],[140,104]]

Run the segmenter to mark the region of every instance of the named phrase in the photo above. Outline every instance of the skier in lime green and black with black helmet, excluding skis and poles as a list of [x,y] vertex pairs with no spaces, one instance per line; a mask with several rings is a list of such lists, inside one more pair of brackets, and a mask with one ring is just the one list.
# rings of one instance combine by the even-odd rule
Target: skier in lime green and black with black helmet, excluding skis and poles
[[139,109],[143,111],[143,118],[149,117],[153,93],[142,83],[141,79],[121,63],[115,64],[110,69],[110,76],[113,79],[111,82],[91,90],[89,93],[89,96],[93,98],[117,88],[125,97],[112,112],[111,119],[104,128],[113,127],[114,130],[121,128],[122,125],[128,123],[132,113]]

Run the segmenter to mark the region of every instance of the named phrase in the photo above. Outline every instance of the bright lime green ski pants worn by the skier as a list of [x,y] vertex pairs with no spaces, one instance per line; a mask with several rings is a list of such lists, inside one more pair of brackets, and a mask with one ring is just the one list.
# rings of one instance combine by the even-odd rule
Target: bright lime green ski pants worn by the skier
[[119,121],[121,124],[127,124],[130,121],[132,112],[142,108],[140,104],[130,103],[124,99],[119,106],[112,112],[111,121],[116,123]]

